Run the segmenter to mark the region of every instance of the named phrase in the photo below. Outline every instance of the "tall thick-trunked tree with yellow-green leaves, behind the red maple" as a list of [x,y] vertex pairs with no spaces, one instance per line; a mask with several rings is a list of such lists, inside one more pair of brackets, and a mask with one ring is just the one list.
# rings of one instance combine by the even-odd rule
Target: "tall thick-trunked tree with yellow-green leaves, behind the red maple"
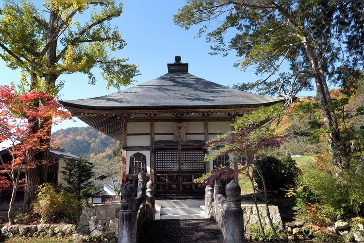
[[[89,84],[95,84],[94,68],[101,70],[106,88],[129,85],[139,74],[137,66],[113,56],[126,45],[117,28],[110,25],[121,13],[122,4],[110,1],[47,1],[39,8],[28,1],[4,2],[0,5],[0,58],[10,69],[21,70],[23,89],[53,96],[63,87],[58,80],[62,74],[80,72],[88,76]],[[34,133],[51,119],[34,121]],[[47,181],[44,161],[48,157],[48,149],[38,151],[34,160],[39,165],[26,171],[27,208],[36,185]]]

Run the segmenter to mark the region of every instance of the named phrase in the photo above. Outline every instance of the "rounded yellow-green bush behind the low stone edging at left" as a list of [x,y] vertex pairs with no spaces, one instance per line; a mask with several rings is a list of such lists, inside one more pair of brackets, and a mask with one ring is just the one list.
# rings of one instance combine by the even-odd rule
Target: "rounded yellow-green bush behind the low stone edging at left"
[[33,203],[33,210],[39,213],[42,220],[49,223],[77,221],[77,200],[65,191],[57,192],[51,184],[45,183],[38,188],[38,194]]

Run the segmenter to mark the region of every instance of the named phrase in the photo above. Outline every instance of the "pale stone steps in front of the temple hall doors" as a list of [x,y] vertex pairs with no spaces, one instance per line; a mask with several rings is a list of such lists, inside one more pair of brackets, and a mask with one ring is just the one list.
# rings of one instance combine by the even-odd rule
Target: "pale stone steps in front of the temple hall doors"
[[156,200],[155,219],[204,219],[203,200]]

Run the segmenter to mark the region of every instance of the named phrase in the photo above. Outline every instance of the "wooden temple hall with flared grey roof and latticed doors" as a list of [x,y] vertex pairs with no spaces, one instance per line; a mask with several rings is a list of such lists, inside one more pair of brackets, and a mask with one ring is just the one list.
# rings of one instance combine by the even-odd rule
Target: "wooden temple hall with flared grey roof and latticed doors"
[[73,116],[122,142],[123,184],[136,185],[144,170],[155,182],[157,197],[201,196],[204,190],[193,180],[233,161],[231,155],[203,162],[206,141],[231,130],[237,116],[282,99],[194,76],[178,57],[167,68],[165,75],[113,94],[60,102]]

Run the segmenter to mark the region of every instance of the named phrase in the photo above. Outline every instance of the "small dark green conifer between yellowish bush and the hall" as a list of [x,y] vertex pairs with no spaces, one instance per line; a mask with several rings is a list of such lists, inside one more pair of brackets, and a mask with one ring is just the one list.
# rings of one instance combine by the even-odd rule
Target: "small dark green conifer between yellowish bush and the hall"
[[91,196],[93,166],[83,158],[65,158],[66,167],[63,167],[62,174],[66,181],[62,189],[77,200],[77,209],[81,214],[83,203]]

